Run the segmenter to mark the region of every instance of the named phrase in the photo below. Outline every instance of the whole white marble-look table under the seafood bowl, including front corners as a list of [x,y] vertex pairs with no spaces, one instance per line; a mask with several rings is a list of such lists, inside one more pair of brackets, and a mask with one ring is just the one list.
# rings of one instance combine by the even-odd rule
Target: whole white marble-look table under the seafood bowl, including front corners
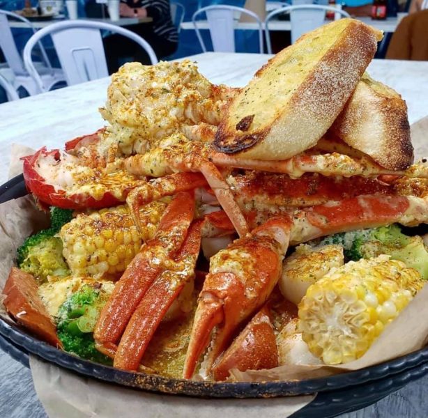
[[[243,86],[269,56],[207,53],[190,57],[214,83]],[[428,114],[428,62],[374,60],[370,75],[402,94],[411,123]],[[11,144],[33,148],[62,147],[64,142],[103,125],[98,107],[107,97],[109,79],[79,84],[42,95],[0,104],[0,183],[8,176]],[[417,144],[425,147],[425,144]],[[45,418],[34,392],[31,373],[0,351],[0,417]],[[428,376],[412,382],[378,403],[342,418],[425,418]],[[59,417],[61,418],[61,417]],[[320,417],[321,418],[321,417]]]

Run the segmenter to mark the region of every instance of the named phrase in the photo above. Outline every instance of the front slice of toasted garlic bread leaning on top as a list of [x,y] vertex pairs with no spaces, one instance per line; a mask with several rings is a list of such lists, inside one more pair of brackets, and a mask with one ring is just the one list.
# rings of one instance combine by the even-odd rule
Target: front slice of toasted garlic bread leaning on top
[[[323,36],[330,45],[326,51],[318,41]],[[270,59],[229,102],[214,146],[224,153],[260,160],[284,160],[314,146],[351,96],[380,38],[381,32],[352,19],[321,26],[302,36]],[[311,63],[313,49],[316,49],[314,54],[319,54],[314,65]],[[257,107],[266,108],[265,91],[259,91],[266,88],[265,96],[272,93],[266,80],[272,75],[281,80],[281,67],[294,65],[296,60],[300,60],[303,68],[308,63],[312,68],[306,73],[302,70],[302,78],[297,75],[294,84],[273,82],[278,102],[269,103],[272,111],[263,110],[259,115],[252,111]],[[249,97],[256,101],[260,97],[261,102],[249,102]],[[245,113],[247,108],[249,111]]]

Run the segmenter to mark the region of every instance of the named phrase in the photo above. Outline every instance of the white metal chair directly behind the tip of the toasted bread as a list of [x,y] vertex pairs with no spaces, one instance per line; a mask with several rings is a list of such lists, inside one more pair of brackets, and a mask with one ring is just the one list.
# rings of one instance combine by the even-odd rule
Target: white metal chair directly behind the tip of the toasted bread
[[272,54],[272,45],[270,43],[269,23],[273,17],[281,15],[282,13],[290,13],[291,21],[291,43],[296,42],[300,36],[309,31],[313,31],[319,26],[325,24],[326,12],[335,12],[335,18],[351,17],[342,9],[332,6],[319,6],[316,4],[301,4],[296,6],[284,6],[277,8],[266,16],[265,20],[265,35],[266,46],[268,47],[268,54]]

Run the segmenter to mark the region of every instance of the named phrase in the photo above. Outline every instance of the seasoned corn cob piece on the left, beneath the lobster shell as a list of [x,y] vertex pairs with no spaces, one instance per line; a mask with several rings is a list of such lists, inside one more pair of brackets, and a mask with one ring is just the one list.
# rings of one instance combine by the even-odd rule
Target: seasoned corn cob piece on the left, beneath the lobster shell
[[135,226],[128,206],[80,214],[64,225],[59,236],[72,275],[116,279],[153,237],[166,203],[155,201],[140,212],[144,230]]

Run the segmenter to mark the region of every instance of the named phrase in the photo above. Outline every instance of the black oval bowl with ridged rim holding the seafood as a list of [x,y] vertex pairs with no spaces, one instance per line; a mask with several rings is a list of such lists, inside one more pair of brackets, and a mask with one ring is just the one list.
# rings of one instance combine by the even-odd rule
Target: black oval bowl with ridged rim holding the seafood
[[[17,176],[0,187],[0,203],[25,194],[24,180],[22,176]],[[266,398],[321,392],[323,397],[320,398],[319,395],[311,405],[318,404],[319,408],[321,408],[320,403],[325,403],[328,399],[330,405],[333,405],[332,403],[342,405],[339,408],[340,410],[338,409],[339,412],[335,412],[335,414],[369,405],[388,393],[399,389],[399,387],[406,385],[407,382],[428,373],[428,348],[423,348],[415,353],[410,353],[376,366],[327,378],[269,382],[198,382],[122,371],[89,362],[53,348],[34,338],[17,325],[6,323],[4,320],[0,320],[0,336],[2,337],[0,348],[10,353],[14,358],[20,357],[21,353],[24,356],[28,355],[28,353],[33,353],[49,362],[82,375],[114,382],[119,385],[151,392],[211,398]],[[20,361],[25,362],[22,359]],[[376,385],[383,385],[383,389],[374,389],[378,387]],[[367,394],[367,396],[361,398],[360,395],[352,396],[353,391],[360,394],[365,391],[371,391],[371,395]],[[332,409],[331,412],[333,413],[333,411]],[[318,412],[321,413],[320,410]],[[328,415],[322,416],[333,417],[334,415],[329,412]]]

